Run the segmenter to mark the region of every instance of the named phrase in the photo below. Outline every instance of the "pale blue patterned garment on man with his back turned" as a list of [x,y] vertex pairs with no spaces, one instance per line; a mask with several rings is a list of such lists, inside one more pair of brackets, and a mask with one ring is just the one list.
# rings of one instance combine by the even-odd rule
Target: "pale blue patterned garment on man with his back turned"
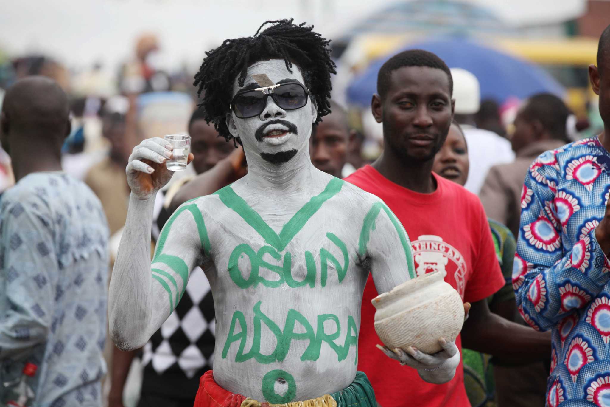
[[2,194],[0,383],[37,364],[31,405],[102,405],[107,240],[98,198],[70,176],[33,173]]

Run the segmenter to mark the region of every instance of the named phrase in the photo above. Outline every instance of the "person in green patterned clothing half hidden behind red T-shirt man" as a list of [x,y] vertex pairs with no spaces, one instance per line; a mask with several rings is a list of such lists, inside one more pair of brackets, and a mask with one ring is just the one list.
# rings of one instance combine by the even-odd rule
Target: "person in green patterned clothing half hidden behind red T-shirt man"
[[[436,153],[432,171],[443,178],[464,185],[468,178],[468,146],[458,123],[451,124],[447,140]],[[506,284],[497,293],[487,297],[494,314],[515,321],[517,316],[515,294],[512,290],[512,265],[517,242],[511,231],[495,220],[487,219],[492,231],[496,256]],[[521,320],[522,323],[523,320]],[[546,355],[541,355],[543,358]],[[543,362],[525,366],[515,360],[491,358],[490,355],[466,348],[464,358],[464,385],[470,404],[475,407],[542,406],[547,383],[547,369]],[[494,380],[495,376],[495,380]]]

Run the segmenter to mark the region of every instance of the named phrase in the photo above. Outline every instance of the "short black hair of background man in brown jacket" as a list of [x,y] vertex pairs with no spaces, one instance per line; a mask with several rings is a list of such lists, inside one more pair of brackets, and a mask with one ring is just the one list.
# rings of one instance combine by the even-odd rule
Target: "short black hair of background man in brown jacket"
[[536,93],[526,100],[521,114],[525,120],[540,121],[553,139],[568,140],[566,123],[572,112],[557,96],[551,93]]

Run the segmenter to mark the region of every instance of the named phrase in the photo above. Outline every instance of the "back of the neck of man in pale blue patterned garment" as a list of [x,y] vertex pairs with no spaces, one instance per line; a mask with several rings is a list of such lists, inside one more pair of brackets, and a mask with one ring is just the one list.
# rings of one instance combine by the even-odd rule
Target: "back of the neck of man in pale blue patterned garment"
[[34,150],[31,145],[26,143],[12,143],[10,159],[15,182],[31,173],[62,170],[61,153],[50,151],[42,146],[38,146]]

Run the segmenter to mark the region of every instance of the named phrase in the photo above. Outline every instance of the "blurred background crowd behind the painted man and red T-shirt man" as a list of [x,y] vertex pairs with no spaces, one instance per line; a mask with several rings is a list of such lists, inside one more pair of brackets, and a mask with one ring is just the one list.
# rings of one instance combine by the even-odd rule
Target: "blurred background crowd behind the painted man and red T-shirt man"
[[[49,77],[69,96],[71,129],[62,146],[62,167],[66,174],[84,181],[101,201],[109,225],[108,279],[127,216],[130,190],[125,168],[138,143],[166,134],[190,134],[195,155],[187,170],[176,173],[157,196],[152,248],[163,224],[180,203],[202,192],[212,193],[247,171],[242,149],[217,137],[213,125],[203,120],[196,106],[193,73],[186,68],[174,72],[160,69],[157,51],[156,36],[142,35],[135,43],[133,56],[121,65],[115,77],[106,76],[99,65],[72,72],[49,56],[0,61],[0,106],[5,90],[27,76]],[[524,194],[531,194],[527,187],[524,189],[523,179],[540,154],[577,142],[585,135],[598,134],[603,127],[586,118],[576,118],[560,98],[550,93],[505,103],[481,100],[475,75],[461,68],[452,68],[451,75],[455,123],[436,156],[433,170],[479,196],[490,218],[498,261],[506,278],[504,292],[489,298],[495,306],[490,308],[525,325],[512,294],[512,287],[517,284],[512,278],[515,238],[519,237],[523,202],[528,199]],[[384,149],[383,140],[367,125],[370,110],[334,101],[331,110],[312,132],[310,156],[318,169],[345,178],[377,159]],[[32,145],[31,149],[32,158],[36,159],[37,146]],[[196,175],[207,178],[195,178]],[[197,185],[195,195],[180,189],[185,182],[199,182],[190,184]],[[13,184],[10,157],[0,149],[0,196]],[[142,406],[156,405],[158,400],[146,396],[146,392],[155,394],[151,389],[172,383],[171,375],[179,375],[181,380],[176,381],[179,384],[168,385],[170,393],[173,392],[167,395],[168,399],[184,392],[192,394],[193,388],[196,391],[199,376],[211,369],[213,358],[213,303],[206,284],[203,272],[198,269],[175,311],[179,317],[173,323],[179,327],[174,326],[173,330],[162,327],[142,350],[121,352],[111,340],[106,340],[104,355],[109,374],[102,390],[106,403],[130,407],[140,400]],[[185,315],[195,314],[193,309],[198,310],[198,317],[189,319],[189,328],[181,321]],[[185,351],[187,348],[190,353]],[[489,355],[476,352],[465,352],[464,362],[470,402],[473,406],[489,407],[526,405],[515,402],[518,398],[514,397],[515,394],[525,397],[527,392],[522,390],[528,386],[534,389],[529,400],[538,404],[527,405],[543,405],[545,372],[556,363],[551,361],[551,355],[544,355],[533,363],[517,363],[518,366],[501,358],[495,358],[494,364]],[[151,397],[152,401],[146,402],[142,397]]]

